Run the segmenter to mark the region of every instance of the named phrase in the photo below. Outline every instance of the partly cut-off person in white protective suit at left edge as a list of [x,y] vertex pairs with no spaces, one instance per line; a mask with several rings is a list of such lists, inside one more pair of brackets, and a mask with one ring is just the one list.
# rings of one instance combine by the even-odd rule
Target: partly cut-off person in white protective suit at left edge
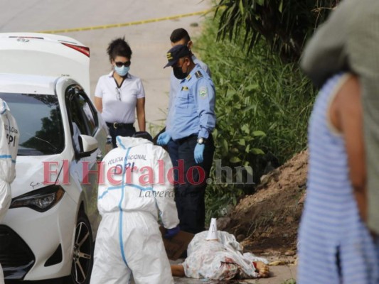
[[[0,99],[0,222],[11,204],[11,182],[16,178],[16,158],[20,131],[8,104]],[[4,284],[0,263],[0,284]]]

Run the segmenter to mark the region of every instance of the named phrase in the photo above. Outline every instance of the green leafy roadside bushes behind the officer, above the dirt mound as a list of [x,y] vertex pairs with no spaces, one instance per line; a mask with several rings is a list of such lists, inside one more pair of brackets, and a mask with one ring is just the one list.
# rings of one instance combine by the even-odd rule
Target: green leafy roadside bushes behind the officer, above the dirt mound
[[[246,182],[253,175],[257,183],[270,163],[284,163],[306,148],[315,90],[296,63],[284,63],[264,41],[246,55],[243,37],[219,42],[217,33],[217,21],[208,20],[196,39],[196,52],[209,65],[216,87],[215,160],[223,167],[247,167],[240,178]],[[215,167],[211,178],[207,220],[254,191],[253,185],[227,184],[225,177],[216,180]]]

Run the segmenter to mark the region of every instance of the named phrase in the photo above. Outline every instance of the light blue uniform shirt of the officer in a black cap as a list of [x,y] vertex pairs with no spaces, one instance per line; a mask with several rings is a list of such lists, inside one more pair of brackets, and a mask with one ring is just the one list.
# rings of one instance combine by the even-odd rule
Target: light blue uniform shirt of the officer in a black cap
[[209,75],[196,64],[181,80],[172,107],[169,134],[174,140],[190,135],[208,138],[215,128],[215,86]]

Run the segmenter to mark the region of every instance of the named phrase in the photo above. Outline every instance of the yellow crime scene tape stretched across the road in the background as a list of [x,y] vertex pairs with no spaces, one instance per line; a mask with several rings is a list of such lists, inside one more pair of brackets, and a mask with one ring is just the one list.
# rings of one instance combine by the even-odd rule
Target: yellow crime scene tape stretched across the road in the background
[[206,13],[209,13],[210,11],[213,11],[213,9],[208,9],[204,11],[198,11],[193,13],[183,13],[181,15],[176,16],[168,16],[163,18],[151,18],[149,20],[144,21],[134,21],[129,23],[114,23],[110,25],[104,25],[104,26],[90,26],[90,27],[84,27],[84,28],[65,28],[62,30],[55,30],[55,31],[38,31],[37,33],[70,33],[73,31],[93,31],[93,30],[102,30],[106,28],[120,28],[124,26],[134,26],[134,25],[142,25],[143,23],[154,23],[159,21],[167,21],[167,20],[174,20],[176,18],[184,18],[189,16],[196,16],[196,15],[205,15]]

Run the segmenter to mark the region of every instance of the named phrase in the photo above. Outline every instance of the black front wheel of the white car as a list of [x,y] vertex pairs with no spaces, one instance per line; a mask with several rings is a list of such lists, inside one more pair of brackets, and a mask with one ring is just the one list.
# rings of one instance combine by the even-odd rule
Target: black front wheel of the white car
[[75,228],[73,267],[71,269],[73,284],[90,283],[94,246],[90,221],[84,212],[79,212]]

